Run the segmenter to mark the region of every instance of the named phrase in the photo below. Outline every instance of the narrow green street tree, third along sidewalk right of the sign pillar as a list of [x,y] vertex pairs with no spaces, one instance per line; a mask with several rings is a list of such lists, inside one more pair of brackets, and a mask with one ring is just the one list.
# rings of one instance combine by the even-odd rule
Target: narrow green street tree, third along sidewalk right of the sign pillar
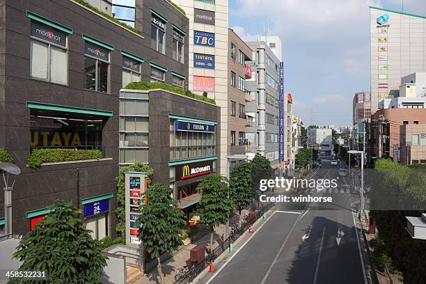
[[232,201],[239,212],[239,228],[241,228],[241,212],[253,200],[250,163],[242,161],[230,169],[229,187]]

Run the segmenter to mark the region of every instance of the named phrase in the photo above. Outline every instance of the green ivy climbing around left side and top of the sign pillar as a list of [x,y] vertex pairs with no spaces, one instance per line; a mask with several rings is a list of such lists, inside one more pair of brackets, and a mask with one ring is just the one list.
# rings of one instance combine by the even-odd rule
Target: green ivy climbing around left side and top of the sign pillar
[[148,187],[151,184],[152,175],[154,174],[154,170],[148,166],[148,164],[143,164],[140,161],[136,161],[136,163],[129,165],[129,166],[122,166],[120,168],[120,173],[118,177],[116,178],[117,187],[118,187],[118,193],[117,193],[117,201],[118,206],[116,209],[116,215],[118,218],[118,222],[116,225],[116,231],[118,232],[118,235],[121,238],[125,238],[125,231],[126,231],[126,200],[125,200],[125,172],[128,171],[135,171],[135,172],[145,172],[148,174],[147,176],[147,185]]

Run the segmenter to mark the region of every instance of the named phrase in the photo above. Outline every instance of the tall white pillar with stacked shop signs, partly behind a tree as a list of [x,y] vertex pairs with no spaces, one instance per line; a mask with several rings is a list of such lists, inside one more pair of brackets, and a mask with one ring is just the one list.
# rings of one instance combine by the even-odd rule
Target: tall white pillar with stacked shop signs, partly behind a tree
[[141,240],[138,238],[142,226],[136,225],[140,215],[140,206],[146,202],[147,173],[125,173],[125,201],[126,201],[126,245],[139,248]]

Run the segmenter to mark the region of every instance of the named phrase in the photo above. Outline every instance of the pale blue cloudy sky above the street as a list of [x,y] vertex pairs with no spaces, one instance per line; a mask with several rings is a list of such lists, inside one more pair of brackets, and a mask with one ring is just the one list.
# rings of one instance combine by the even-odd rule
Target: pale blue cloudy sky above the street
[[[402,0],[229,0],[229,26],[243,40],[283,41],[284,91],[294,115],[310,125],[352,125],[352,99],[370,91],[370,10],[402,11]],[[404,12],[426,15],[426,0],[404,0]]]

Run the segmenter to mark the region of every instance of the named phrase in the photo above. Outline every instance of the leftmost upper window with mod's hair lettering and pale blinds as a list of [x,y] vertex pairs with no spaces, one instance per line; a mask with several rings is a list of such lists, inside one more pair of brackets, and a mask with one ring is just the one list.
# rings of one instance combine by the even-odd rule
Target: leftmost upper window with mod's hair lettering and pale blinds
[[31,22],[30,76],[32,78],[68,84],[67,51],[66,33],[38,22]]

